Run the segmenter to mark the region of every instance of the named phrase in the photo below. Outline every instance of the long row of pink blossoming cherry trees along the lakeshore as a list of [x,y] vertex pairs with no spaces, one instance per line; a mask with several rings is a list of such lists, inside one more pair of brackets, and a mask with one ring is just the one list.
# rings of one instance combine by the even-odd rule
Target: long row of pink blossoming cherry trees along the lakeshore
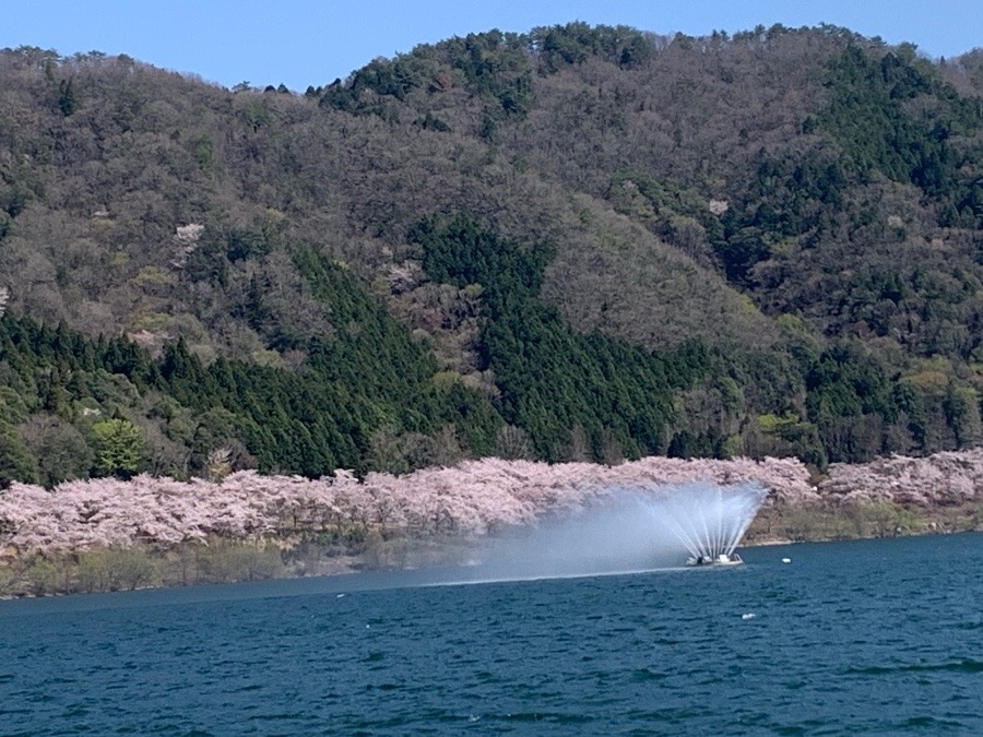
[[646,457],[617,466],[483,459],[404,476],[348,472],[309,480],[239,472],[221,483],[138,476],[68,482],[54,490],[13,484],[0,494],[0,549],[10,554],[164,546],[205,539],[375,531],[383,536],[482,536],[546,514],[576,513],[619,489],[665,494],[695,480],[756,480],[768,504],[891,500],[947,504],[983,498],[983,450],[892,456],[830,467],[818,487],[795,459]]

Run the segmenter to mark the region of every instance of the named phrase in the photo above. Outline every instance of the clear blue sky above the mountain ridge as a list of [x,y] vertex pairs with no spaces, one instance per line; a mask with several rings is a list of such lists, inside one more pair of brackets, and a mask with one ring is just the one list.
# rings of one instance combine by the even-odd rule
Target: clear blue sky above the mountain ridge
[[825,22],[929,57],[983,47],[981,0],[3,0],[0,48],[128,54],[225,86],[303,91],[417,44],[575,20],[689,35]]

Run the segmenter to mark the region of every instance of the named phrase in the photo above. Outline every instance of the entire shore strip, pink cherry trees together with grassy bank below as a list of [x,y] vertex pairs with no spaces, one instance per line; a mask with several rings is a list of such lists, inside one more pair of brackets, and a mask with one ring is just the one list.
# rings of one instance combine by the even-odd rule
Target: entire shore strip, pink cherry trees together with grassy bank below
[[12,484],[0,491],[0,595],[95,593],[466,561],[469,545],[618,494],[756,485],[745,547],[983,530],[983,449],[832,465],[650,456],[614,466],[481,459],[404,476],[237,472]]

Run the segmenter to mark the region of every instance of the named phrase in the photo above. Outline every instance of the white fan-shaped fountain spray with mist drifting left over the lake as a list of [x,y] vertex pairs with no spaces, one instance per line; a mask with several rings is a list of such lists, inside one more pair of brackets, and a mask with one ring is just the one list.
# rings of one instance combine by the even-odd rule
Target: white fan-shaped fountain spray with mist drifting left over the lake
[[730,555],[766,496],[758,484],[617,487],[600,502],[479,544],[462,581],[679,568]]

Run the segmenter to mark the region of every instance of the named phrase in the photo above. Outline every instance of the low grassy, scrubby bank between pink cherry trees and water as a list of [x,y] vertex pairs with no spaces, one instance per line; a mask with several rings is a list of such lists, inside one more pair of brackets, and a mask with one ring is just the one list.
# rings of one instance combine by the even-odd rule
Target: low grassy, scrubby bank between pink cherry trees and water
[[[962,519],[966,523],[973,521],[973,524],[940,525],[931,514],[940,510],[925,510],[926,514],[920,519],[922,524],[889,530],[877,526],[878,522],[884,522],[884,504],[875,502],[871,507],[858,509],[871,513],[874,520],[874,526],[862,531],[856,526],[856,515],[844,514],[842,510],[838,513],[828,508],[803,510],[772,504],[759,511],[738,549],[983,532],[980,516],[972,514],[979,512],[975,507],[967,509],[969,513],[962,518],[954,518],[951,513],[946,518],[950,522]],[[804,512],[813,523],[809,530],[801,524]],[[790,514],[798,522],[794,526],[795,536],[777,534],[777,519]],[[463,537],[440,540],[371,537],[342,550],[336,546],[305,548],[304,542],[276,537],[214,537],[204,543],[182,543],[169,548],[141,545],[38,554],[33,560],[29,556],[8,555],[0,559],[0,601],[464,566],[476,542]]]

